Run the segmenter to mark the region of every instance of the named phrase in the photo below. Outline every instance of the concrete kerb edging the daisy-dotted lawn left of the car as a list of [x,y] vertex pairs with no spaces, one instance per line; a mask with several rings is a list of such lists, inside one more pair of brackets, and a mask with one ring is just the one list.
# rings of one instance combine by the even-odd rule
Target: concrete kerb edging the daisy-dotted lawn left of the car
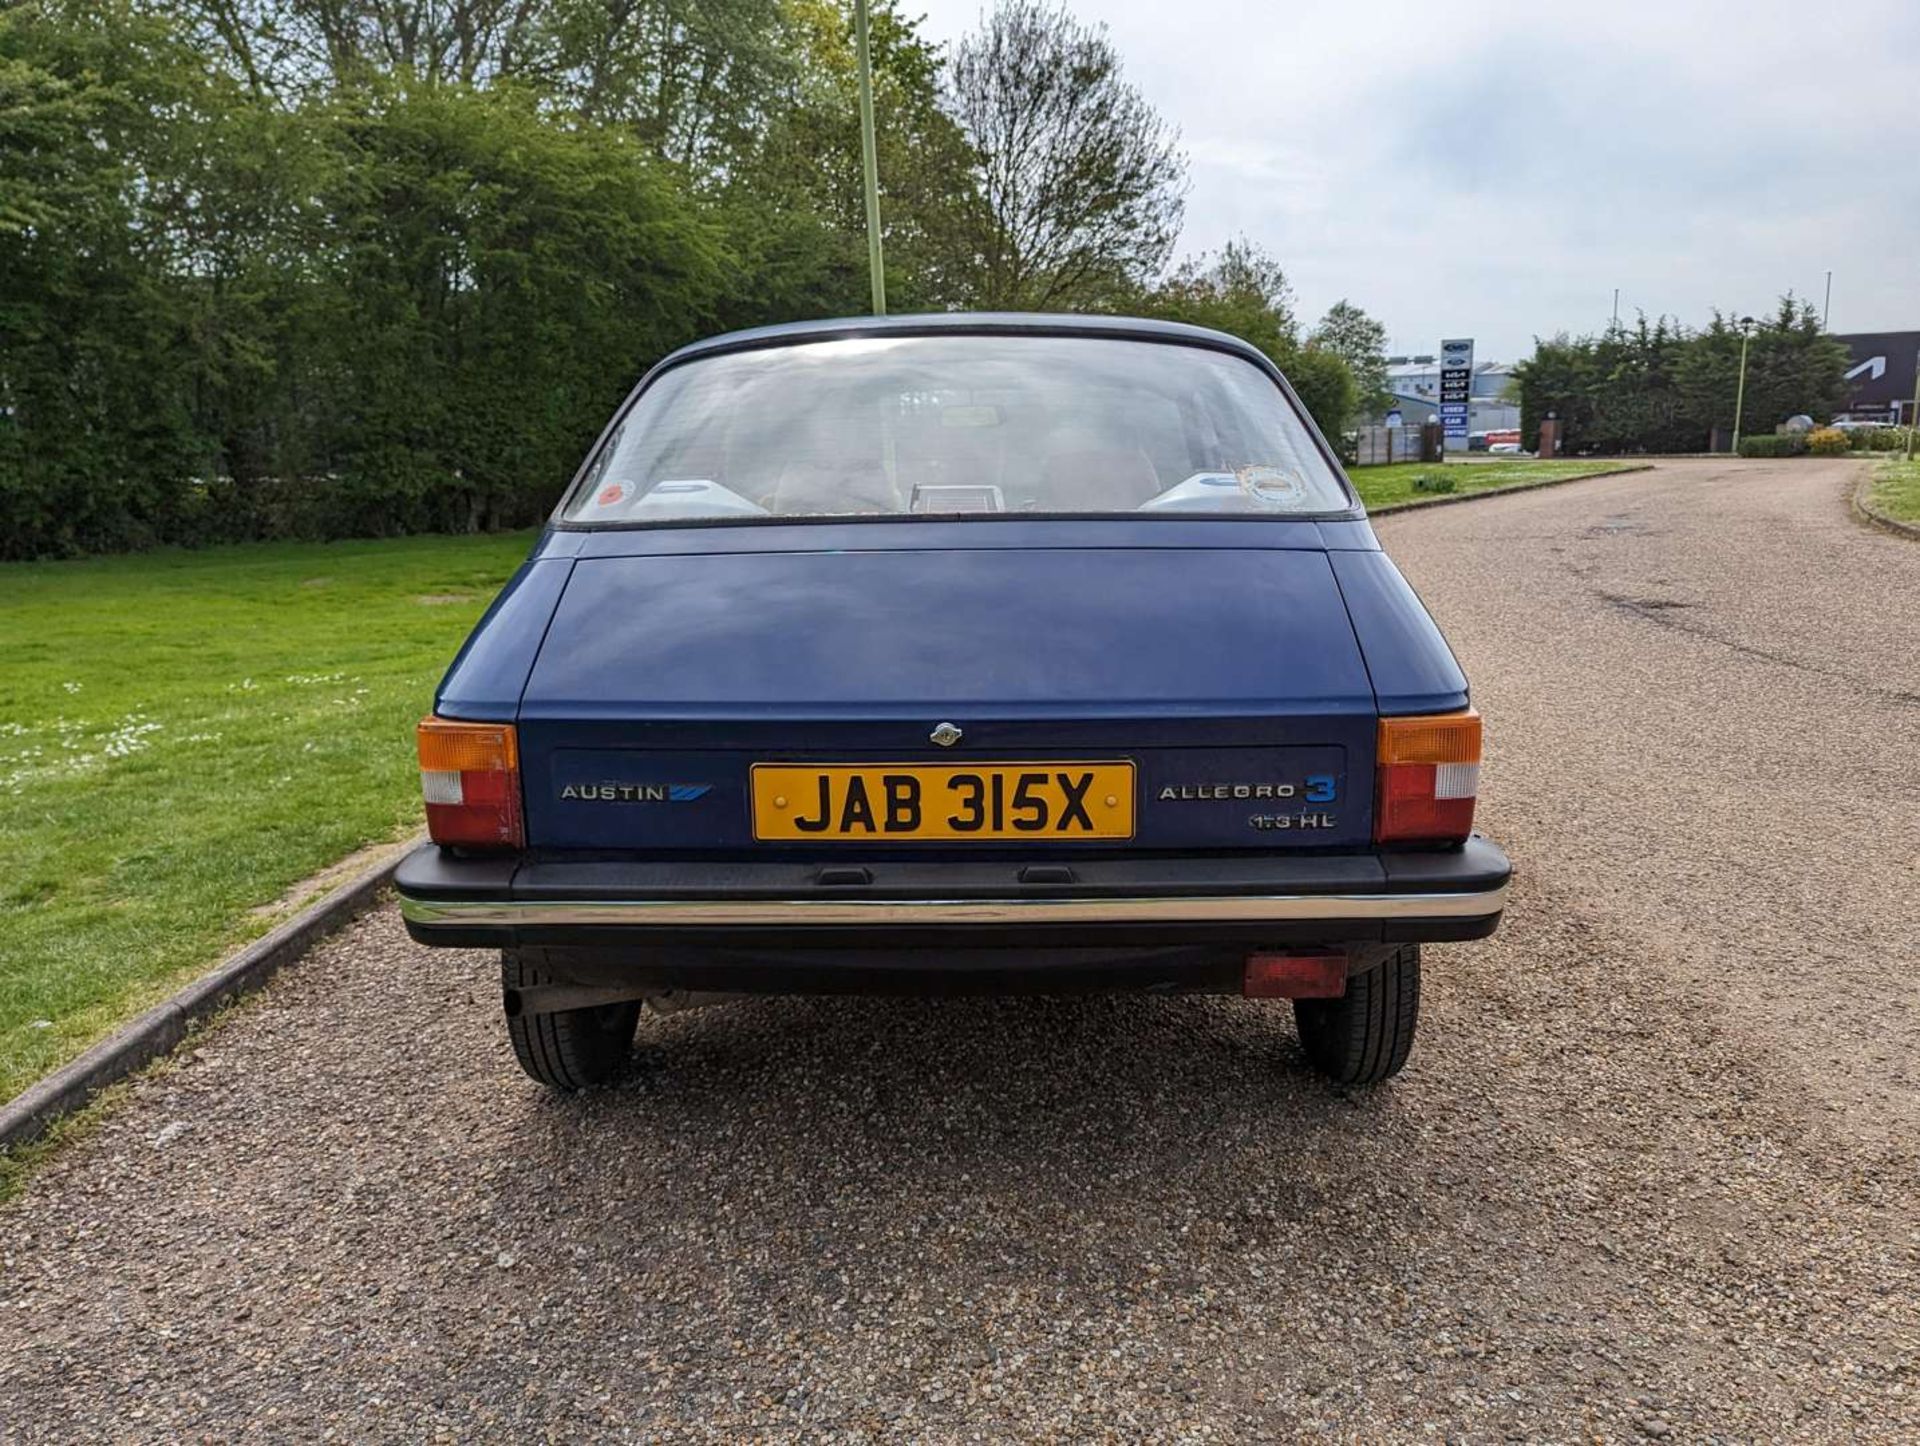
[[394,845],[374,864],[227,958],[211,974],[194,979],[173,999],[156,1004],[77,1060],[0,1104],[0,1150],[38,1139],[56,1120],[73,1114],[108,1085],[152,1064],[186,1039],[194,1020],[204,1020],[228,1000],[257,989],[328,933],[372,908],[394,880],[394,868],[417,841]]

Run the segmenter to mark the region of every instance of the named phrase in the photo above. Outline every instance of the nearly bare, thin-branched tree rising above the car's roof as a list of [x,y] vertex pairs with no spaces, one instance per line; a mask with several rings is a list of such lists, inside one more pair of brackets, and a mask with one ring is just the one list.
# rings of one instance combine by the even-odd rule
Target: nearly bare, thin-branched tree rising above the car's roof
[[948,106],[977,156],[983,211],[958,263],[972,301],[1098,307],[1165,265],[1187,157],[1106,27],[1000,0],[952,54]]

